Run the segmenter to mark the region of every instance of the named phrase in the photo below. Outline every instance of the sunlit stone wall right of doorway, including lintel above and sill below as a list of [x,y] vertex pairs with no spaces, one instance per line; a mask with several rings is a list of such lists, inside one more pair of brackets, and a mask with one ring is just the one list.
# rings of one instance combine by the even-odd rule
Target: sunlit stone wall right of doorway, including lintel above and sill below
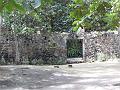
[[[67,39],[83,39],[83,57],[85,62],[107,61],[119,58],[118,32],[84,32],[69,34]],[[70,60],[70,59],[69,59]],[[73,59],[71,59],[73,60]],[[74,59],[75,60],[75,59]],[[77,59],[80,60],[81,59]]]

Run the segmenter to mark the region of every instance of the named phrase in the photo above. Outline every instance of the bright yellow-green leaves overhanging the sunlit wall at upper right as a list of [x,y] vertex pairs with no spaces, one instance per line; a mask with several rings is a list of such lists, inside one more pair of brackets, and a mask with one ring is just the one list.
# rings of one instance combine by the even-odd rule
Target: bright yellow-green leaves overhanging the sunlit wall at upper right
[[79,27],[85,30],[109,30],[119,27],[119,0],[74,0],[70,4],[70,16],[75,19],[73,31]]

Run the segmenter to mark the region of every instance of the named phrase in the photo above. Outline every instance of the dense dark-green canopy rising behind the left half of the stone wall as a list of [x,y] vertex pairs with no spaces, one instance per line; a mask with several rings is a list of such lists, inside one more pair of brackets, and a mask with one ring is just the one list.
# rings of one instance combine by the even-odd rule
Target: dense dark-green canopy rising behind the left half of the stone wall
[[[17,34],[35,33],[36,30],[49,32],[64,32],[71,29],[73,19],[69,17],[69,2],[64,0],[53,0],[45,2],[38,7],[33,6],[30,2],[23,3],[26,13],[21,14],[18,10],[10,13],[6,10],[1,14],[4,19],[4,27],[14,30]],[[31,6],[32,5],[32,6]],[[12,28],[14,26],[14,28]]]

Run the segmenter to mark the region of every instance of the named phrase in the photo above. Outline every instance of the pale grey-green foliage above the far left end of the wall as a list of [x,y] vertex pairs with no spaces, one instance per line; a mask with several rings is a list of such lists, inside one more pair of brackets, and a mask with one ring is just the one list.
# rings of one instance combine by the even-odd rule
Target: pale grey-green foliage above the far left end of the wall
[[1,14],[3,18],[2,27],[15,32],[15,34],[35,33],[35,28],[30,27],[30,23],[25,22],[26,15],[20,14],[18,11],[13,13],[4,12]]

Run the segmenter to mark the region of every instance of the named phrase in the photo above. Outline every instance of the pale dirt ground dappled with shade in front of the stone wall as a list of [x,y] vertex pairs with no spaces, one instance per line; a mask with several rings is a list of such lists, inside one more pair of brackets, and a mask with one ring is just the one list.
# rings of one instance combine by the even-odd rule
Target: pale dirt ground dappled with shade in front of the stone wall
[[0,66],[0,90],[120,90],[120,63]]

